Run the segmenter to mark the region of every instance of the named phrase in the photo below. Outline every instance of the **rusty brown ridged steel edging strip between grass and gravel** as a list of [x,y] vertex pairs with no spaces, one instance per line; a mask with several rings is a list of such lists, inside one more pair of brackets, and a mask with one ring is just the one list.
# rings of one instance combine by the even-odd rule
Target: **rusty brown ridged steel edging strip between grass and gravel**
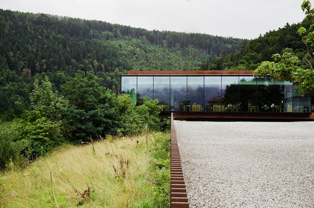
[[170,207],[188,208],[187,189],[183,178],[176,130],[171,114]]

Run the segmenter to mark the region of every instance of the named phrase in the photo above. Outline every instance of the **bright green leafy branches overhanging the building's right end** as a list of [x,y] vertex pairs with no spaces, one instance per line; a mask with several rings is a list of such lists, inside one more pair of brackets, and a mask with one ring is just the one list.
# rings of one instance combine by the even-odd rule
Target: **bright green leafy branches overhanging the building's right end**
[[314,72],[313,72],[313,46],[314,46],[314,9],[311,9],[310,1],[303,1],[301,8],[306,11],[305,20],[311,25],[307,30],[300,27],[297,33],[302,36],[302,41],[306,45],[306,54],[301,60],[291,52],[284,52],[274,54],[272,58],[274,61],[264,61],[254,71],[254,75],[261,75],[262,77],[269,74],[276,80],[285,80],[293,82],[298,88],[295,93],[305,95],[306,93],[314,93]]

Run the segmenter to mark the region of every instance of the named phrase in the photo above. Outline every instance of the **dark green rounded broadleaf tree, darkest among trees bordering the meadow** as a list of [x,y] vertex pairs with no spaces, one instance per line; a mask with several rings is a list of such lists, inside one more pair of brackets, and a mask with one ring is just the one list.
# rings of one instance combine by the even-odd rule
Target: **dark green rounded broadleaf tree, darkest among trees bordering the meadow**
[[105,137],[118,130],[116,120],[115,95],[111,90],[100,86],[96,77],[88,72],[78,73],[69,82],[62,85],[71,107],[68,113],[69,124],[73,129],[75,141],[89,141],[90,137]]

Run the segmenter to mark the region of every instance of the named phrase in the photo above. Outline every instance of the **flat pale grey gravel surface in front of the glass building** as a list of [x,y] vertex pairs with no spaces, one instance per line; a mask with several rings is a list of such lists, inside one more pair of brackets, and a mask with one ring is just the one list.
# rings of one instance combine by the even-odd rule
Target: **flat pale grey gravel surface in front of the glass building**
[[314,207],[314,122],[174,123],[190,208]]

